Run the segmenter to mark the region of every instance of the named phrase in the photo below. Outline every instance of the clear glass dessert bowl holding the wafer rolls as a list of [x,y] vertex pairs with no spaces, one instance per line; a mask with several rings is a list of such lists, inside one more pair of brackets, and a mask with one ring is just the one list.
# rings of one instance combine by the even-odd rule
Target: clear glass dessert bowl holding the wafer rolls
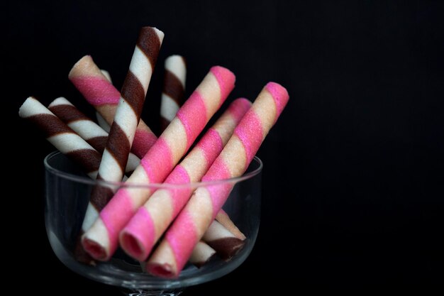
[[[95,265],[80,263],[74,258],[74,248],[82,228],[91,189],[104,182],[91,180],[71,160],[59,152],[50,153],[45,164],[45,225],[52,250],[63,264],[75,273],[100,283],[121,287],[128,295],[178,295],[185,287],[220,278],[237,268],[248,257],[257,238],[260,222],[262,161],[254,158],[241,177],[215,182],[186,185],[131,185],[150,189],[234,185],[223,210],[245,234],[245,245],[228,261],[216,256],[200,268],[187,263],[177,278],[159,278],[143,269],[143,263],[133,260],[120,249],[111,260]],[[124,183],[113,185],[130,186]]]

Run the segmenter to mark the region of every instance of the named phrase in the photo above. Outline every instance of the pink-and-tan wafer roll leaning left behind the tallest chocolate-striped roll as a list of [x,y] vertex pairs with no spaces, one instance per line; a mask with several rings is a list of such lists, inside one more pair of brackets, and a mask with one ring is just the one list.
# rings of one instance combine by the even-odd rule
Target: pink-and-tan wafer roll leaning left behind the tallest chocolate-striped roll
[[[160,48],[160,40],[157,42],[157,44],[153,45]],[[137,49],[135,50],[134,54],[135,55],[133,55],[133,58],[143,57],[144,55],[140,50]],[[137,65],[137,63],[133,65]],[[145,65],[140,64],[140,66],[140,68],[145,70],[148,70],[151,67],[150,62],[145,62]],[[68,77],[70,78],[72,84],[74,84],[79,92],[82,93],[83,97],[87,99],[89,104],[94,106],[99,114],[101,114],[105,121],[111,126],[116,114],[116,109],[121,98],[121,94],[118,92],[116,87],[113,87],[113,84],[106,79],[99,67],[94,64],[92,58],[89,55],[82,57],[72,67]],[[146,84],[144,87],[148,87],[148,84]],[[123,90],[128,91],[128,88],[122,89],[122,91]],[[131,151],[133,151],[133,153],[139,158],[143,158],[143,155],[147,153],[156,140],[157,137],[155,134],[152,133],[151,129],[142,120],[140,120],[135,131]]]

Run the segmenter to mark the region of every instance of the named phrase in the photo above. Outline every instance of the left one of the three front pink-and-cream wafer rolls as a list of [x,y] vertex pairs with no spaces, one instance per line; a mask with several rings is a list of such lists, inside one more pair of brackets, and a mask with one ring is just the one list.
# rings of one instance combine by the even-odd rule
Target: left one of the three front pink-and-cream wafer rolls
[[[158,183],[172,171],[204,129],[211,116],[234,87],[235,76],[223,67],[212,67],[187,102],[177,112],[128,183]],[[135,211],[146,202],[152,190],[148,187],[121,188],[101,211],[100,218],[83,236],[85,250],[98,260],[107,260],[116,251],[118,234]]]

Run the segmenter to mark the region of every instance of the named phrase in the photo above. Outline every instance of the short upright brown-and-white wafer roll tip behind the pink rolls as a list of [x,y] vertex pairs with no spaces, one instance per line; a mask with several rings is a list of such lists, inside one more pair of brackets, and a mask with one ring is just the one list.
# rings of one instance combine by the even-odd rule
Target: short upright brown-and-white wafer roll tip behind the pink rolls
[[165,131],[184,103],[186,78],[187,65],[184,57],[180,55],[167,57],[162,98],[160,99],[160,131]]

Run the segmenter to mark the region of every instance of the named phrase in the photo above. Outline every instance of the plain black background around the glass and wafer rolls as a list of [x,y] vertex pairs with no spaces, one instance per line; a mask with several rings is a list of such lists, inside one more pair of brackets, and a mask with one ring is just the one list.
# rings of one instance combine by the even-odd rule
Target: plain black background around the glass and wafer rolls
[[19,185],[3,198],[16,217],[5,222],[11,275],[30,283],[20,290],[118,295],[53,255],[42,164],[53,149],[16,114],[30,95],[44,104],[65,96],[92,114],[67,73],[90,54],[120,88],[141,26],[165,33],[143,115],[154,130],[168,55],[187,57],[187,94],[212,65],[237,76],[228,101],[254,99],[268,81],[290,94],[258,152],[255,249],[233,273],[186,295],[443,289],[443,4],[238,2],[6,2],[6,185]]

